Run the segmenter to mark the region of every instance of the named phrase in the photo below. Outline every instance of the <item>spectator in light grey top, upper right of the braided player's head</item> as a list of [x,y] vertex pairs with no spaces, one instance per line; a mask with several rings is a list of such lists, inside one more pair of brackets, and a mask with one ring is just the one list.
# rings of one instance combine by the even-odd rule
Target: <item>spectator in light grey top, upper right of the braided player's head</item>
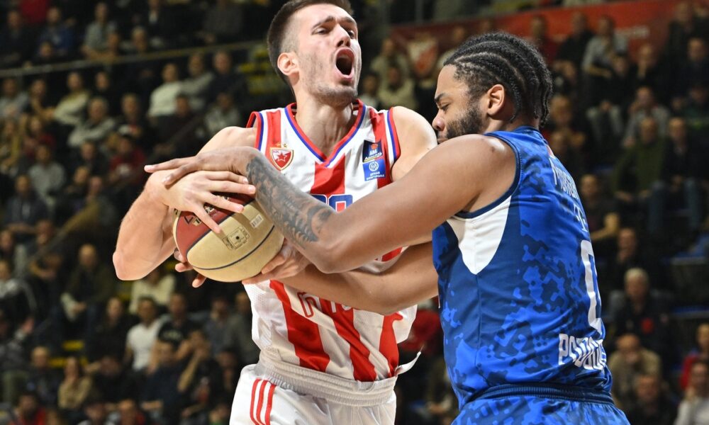
[[603,80],[613,77],[613,58],[616,55],[627,54],[627,39],[615,33],[615,21],[610,16],[601,16],[598,19],[596,35],[588,41],[584,52],[583,67],[588,77],[588,94],[598,90],[598,85]]

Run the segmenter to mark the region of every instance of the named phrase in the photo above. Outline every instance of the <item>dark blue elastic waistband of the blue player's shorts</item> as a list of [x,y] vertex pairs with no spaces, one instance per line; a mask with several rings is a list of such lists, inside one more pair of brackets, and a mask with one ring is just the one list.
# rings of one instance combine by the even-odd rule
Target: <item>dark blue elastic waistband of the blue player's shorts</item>
[[470,401],[475,399],[493,399],[503,397],[542,397],[567,399],[574,402],[614,404],[610,393],[593,391],[588,388],[574,387],[571,385],[530,382],[525,384],[504,384],[490,387]]

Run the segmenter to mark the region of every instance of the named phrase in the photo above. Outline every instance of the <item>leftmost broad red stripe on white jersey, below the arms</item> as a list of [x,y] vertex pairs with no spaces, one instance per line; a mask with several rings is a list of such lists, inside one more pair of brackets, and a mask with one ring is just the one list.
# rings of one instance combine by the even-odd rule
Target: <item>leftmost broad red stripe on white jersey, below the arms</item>
[[323,340],[320,338],[318,324],[311,322],[293,310],[291,300],[283,283],[271,280],[271,289],[281,300],[286,317],[288,341],[293,344],[301,367],[325,372],[330,363],[330,356],[325,353]]

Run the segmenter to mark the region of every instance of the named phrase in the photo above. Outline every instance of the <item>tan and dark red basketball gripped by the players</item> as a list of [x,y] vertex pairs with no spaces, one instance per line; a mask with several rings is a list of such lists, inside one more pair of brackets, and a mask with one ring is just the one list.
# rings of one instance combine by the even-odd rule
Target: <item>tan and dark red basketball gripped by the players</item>
[[206,205],[208,214],[220,225],[221,234],[212,232],[194,213],[177,211],[172,235],[177,249],[195,271],[220,282],[238,282],[256,276],[278,254],[283,234],[254,198],[225,198],[244,205],[244,210],[238,214]]

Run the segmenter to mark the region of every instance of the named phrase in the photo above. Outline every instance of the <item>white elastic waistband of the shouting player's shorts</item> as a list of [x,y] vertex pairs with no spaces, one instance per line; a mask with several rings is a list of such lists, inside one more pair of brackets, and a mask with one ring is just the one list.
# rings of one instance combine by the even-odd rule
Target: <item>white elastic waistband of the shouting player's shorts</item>
[[255,372],[279,387],[351,407],[379,406],[391,399],[396,376],[372,382],[340,378],[277,361],[261,352]]

